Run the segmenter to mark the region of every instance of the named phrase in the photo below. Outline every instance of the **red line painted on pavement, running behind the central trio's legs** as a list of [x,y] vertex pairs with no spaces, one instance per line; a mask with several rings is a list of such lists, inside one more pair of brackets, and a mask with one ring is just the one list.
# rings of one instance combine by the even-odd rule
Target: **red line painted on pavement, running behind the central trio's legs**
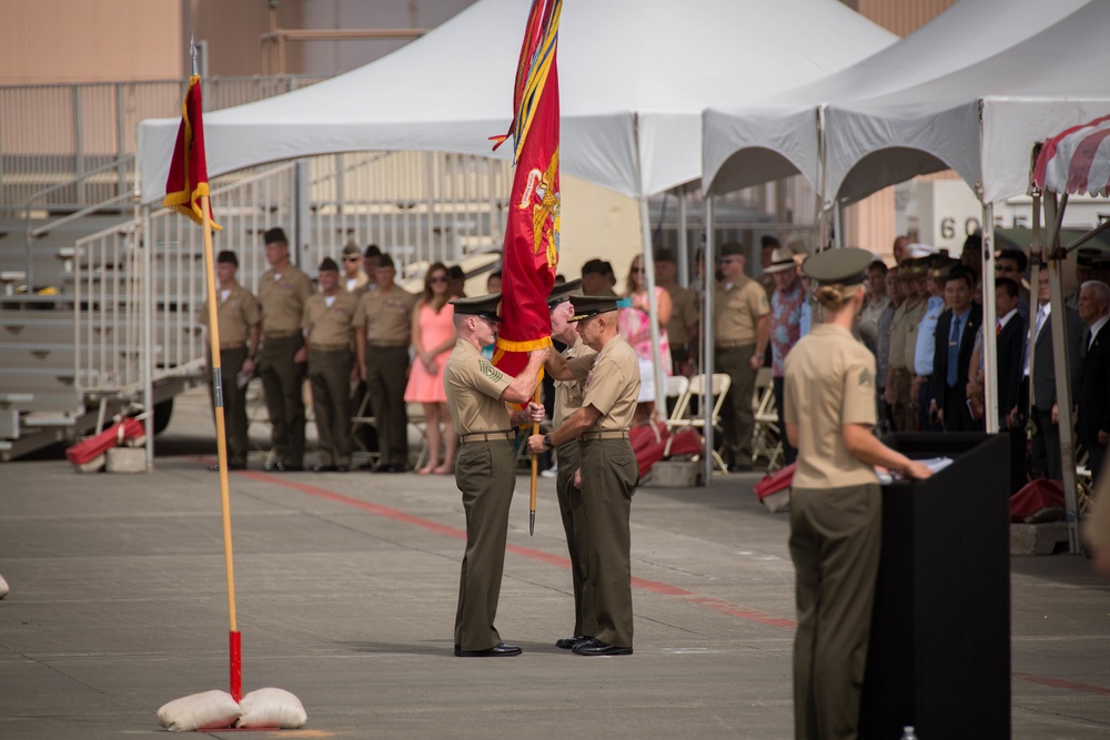
[[[412,525],[414,527],[420,527],[422,529],[427,529],[437,535],[446,535],[454,539],[466,539],[466,530],[460,529],[458,527],[451,527],[445,524],[440,524],[437,521],[432,521],[431,519],[425,519],[423,517],[413,516],[412,514],[405,514],[400,509],[394,509],[389,506],[381,506],[379,504],[371,504],[370,501],[364,501],[352,496],[345,496],[343,494],[336,494],[333,490],[327,490],[326,488],[320,488],[319,486],[311,486],[309,484],[296,483],[294,480],[289,480],[286,478],[279,478],[273,475],[268,475],[265,473],[256,473],[254,470],[235,470],[235,475],[243,476],[244,478],[250,478],[252,480],[258,480],[259,483],[266,483],[271,485],[284,486],[285,488],[291,488],[292,490],[300,491],[302,494],[307,494],[309,496],[315,496],[316,498],[323,498],[324,500],[334,501],[336,504],[343,504],[345,506],[353,506],[360,508],[364,511],[369,511],[375,516],[384,517],[386,519],[392,519],[393,521],[401,521],[404,524]],[[547,565],[553,565],[558,568],[569,568],[571,560],[566,557],[559,555],[553,555],[545,550],[538,550],[534,547],[522,547],[519,545],[508,545],[505,548],[506,553],[512,553],[513,555],[519,555],[522,557],[529,558],[532,560],[537,560],[539,562],[546,562]],[[730,617],[738,617],[747,621],[753,621],[759,625],[767,625],[770,627],[779,627],[784,629],[794,629],[797,624],[793,619],[783,619],[779,617],[773,617],[770,615],[765,615],[759,611],[753,611],[751,609],[744,609],[735,604],[728,604],[727,601],[722,601],[720,599],[714,599],[708,597],[698,596],[693,591],[687,591],[684,588],[677,586],[672,586],[670,584],[664,584],[658,580],[648,580],[646,578],[638,578],[636,576],[632,577],[632,585],[644,591],[649,591],[652,594],[658,594],[659,596],[678,596],[684,598],[690,604],[696,604],[698,606],[704,606],[713,609],[714,611],[719,611],[722,614],[729,615]]]

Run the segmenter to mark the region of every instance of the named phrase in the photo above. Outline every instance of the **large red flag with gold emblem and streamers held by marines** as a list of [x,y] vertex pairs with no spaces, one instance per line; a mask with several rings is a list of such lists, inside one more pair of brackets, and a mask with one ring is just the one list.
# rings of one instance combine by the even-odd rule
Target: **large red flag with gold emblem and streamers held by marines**
[[533,0],[516,70],[508,133],[513,138],[513,194],[502,253],[501,328],[494,365],[511,376],[525,353],[552,344],[547,296],[558,267],[558,19],[562,0]]

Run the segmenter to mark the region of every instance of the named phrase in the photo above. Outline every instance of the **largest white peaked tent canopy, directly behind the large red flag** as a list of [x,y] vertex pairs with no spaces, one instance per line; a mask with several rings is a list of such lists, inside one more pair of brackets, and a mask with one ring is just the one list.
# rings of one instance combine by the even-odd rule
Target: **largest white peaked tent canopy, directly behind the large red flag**
[[[371,64],[205,116],[209,173],[347,151],[491,154],[488,136],[512,118],[527,12],[526,0],[480,0]],[[894,40],[838,0],[567,3],[561,165],[630,196],[697,180],[706,107],[819,79]],[[144,203],[164,194],[176,126],[176,119],[139,126]]]

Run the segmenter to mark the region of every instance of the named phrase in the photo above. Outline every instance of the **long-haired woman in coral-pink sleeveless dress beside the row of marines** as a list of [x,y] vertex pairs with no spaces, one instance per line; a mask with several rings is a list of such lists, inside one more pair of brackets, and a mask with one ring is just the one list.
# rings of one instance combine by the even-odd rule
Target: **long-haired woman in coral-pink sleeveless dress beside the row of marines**
[[[454,307],[447,303],[447,268],[436,262],[424,273],[424,293],[413,310],[413,365],[408,372],[405,401],[423,404],[427,424],[427,465],[417,470],[421,475],[455,472],[455,450],[458,437],[447,412],[447,394],[443,388],[443,367],[455,346]],[[443,434],[440,424],[443,424]],[[443,465],[440,447],[444,446]]]

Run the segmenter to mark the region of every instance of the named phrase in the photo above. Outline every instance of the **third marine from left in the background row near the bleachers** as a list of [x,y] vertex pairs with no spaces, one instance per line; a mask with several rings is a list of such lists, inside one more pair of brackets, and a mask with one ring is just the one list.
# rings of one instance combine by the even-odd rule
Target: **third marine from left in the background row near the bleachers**
[[304,341],[309,347],[309,383],[320,436],[316,473],[346,473],[351,467],[351,328],[359,297],[340,286],[340,266],[320,263],[320,293],[304,302]]

